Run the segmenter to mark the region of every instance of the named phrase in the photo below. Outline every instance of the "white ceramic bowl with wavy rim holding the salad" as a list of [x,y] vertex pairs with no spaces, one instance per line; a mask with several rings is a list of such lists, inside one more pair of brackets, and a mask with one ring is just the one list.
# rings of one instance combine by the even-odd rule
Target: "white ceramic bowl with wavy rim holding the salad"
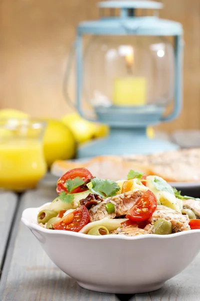
[[[92,236],[37,225],[39,208],[23,211],[22,222],[48,257],[84,288],[139,293],[160,288],[200,250],[200,230],[170,235]],[[59,252],[57,251],[59,250]]]

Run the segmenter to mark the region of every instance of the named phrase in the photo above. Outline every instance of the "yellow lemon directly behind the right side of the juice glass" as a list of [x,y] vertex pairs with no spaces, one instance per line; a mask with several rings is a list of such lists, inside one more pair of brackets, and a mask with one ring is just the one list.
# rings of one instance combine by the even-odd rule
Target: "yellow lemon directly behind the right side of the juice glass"
[[75,155],[75,139],[62,122],[58,120],[44,120],[47,122],[44,132],[44,157],[50,167],[55,160],[72,159]]

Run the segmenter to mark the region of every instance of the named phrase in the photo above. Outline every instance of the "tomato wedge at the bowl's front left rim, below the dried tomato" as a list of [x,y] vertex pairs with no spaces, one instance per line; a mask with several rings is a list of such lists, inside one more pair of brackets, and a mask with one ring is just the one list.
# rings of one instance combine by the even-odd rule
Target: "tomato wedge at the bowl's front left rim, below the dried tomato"
[[89,222],[89,213],[85,206],[80,206],[76,210],[63,216],[59,221],[54,223],[53,229],[78,232]]

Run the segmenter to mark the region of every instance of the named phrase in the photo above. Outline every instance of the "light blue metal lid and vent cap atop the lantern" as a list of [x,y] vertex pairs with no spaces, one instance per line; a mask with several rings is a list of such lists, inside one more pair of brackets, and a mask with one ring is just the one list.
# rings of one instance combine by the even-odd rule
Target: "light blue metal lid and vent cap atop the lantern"
[[98,3],[100,9],[120,11],[119,16],[110,14],[95,21],[82,22],[77,27],[78,35],[137,35],[137,36],[181,36],[182,25],[175,21],[154,16],[135,16],[136,9],[157,11],[163,5],[146,0],[114,0]]

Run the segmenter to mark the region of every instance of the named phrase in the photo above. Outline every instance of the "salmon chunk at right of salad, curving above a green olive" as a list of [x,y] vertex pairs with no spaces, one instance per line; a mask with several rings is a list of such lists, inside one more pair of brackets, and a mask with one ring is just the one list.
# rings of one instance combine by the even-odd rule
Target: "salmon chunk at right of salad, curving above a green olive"
[[155,212],[149,218],[148,222],[153,224],[154,222],[156,222],[156,220],[160,218],[171,222],[173,233],[190,230],[188,216],[182,215],[181,213],[178,213],[177,211],[171,208],[162,205],[157,205]]

